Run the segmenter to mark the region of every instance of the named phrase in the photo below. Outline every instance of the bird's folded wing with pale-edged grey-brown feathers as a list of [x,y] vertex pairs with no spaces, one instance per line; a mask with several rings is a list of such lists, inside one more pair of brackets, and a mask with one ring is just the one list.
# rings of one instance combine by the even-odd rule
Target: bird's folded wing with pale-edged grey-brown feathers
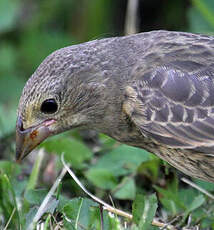
[[214,151],[214,73],[189,72],[158,67],[144,73],[126,88],[124,110],[155,142]]

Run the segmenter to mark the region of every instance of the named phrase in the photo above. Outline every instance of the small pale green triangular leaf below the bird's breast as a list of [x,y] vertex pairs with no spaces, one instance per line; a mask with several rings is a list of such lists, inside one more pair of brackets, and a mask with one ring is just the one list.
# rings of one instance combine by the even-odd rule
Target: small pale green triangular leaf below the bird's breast
[[125,177],[113,191],[114,197],[121,200],[134,200],[136,196],[136,185],[133,178]]

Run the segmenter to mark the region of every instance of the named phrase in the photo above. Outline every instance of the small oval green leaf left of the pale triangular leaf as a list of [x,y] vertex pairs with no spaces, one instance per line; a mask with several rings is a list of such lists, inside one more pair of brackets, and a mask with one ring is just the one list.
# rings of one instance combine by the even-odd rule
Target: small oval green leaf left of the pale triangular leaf
[[116,177],[106,169],[91,168],[86,172],[86,177],[94,185],[103,189],[113,189],[117,185]]

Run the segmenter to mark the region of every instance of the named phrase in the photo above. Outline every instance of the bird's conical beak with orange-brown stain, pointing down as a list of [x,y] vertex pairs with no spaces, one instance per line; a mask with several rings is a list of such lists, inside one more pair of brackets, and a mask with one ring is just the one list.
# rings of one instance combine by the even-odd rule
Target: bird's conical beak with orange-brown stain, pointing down
[[21,117],[18,117],[16,122],[16,161],[20,162],[26,157],[37,145],[52,135],[50,126],[55,123],[55,120],[47,120],[43,123],[23,129]]

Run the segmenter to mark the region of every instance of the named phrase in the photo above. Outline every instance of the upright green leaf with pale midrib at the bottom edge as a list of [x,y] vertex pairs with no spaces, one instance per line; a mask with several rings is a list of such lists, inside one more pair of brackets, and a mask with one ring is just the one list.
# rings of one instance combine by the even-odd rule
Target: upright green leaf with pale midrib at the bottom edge
[[139,229],[149,229],[157,210],[157,197],[138,194],[132,206],[133,221]]

